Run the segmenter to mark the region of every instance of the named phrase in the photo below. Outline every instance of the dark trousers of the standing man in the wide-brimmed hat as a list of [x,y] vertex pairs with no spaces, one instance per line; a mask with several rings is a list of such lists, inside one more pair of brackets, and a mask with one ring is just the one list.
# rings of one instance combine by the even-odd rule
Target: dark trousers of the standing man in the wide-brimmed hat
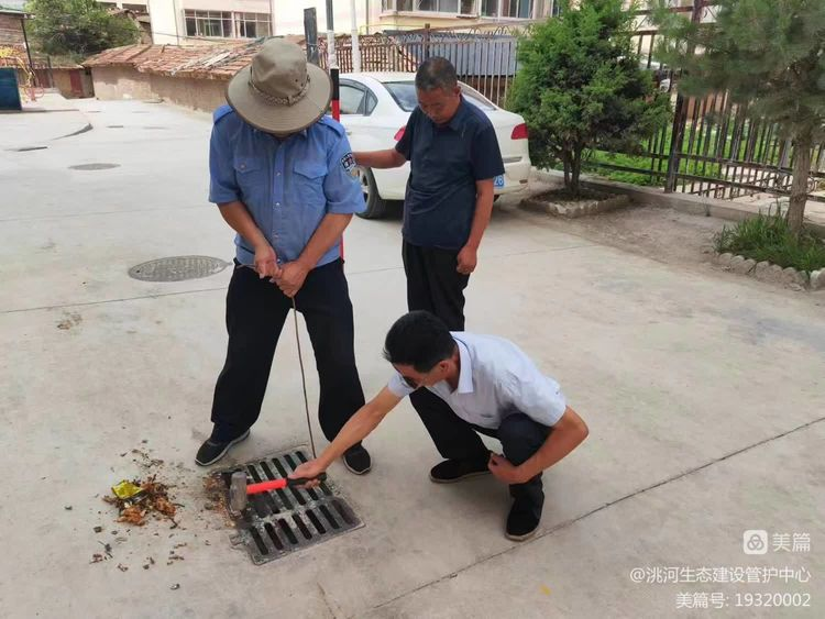
[[[320,382],[318,418],[331,441],[364,406],[343,261],[309,272],[295,303],[312,342]],[[275,346],[292,307],[292,300],[275,284],[237,265],[227,294],[227,361],[212,401],[213,441],[230,441],[257,420]]]

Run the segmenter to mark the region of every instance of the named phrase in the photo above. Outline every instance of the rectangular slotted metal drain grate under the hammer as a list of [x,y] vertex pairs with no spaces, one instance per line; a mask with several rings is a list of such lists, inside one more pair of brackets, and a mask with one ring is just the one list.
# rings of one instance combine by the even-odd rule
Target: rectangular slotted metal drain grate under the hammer
[[[286,477],[302,462],[307,462],[306,451],[296,449],[216,473],[216,476],[226,486],[229,505],[232,473],[243,471],[246,482],[255,484]],[[256,565],[363,527],[329,478],[317,488],[284,488],[251,495],[243,511],[232,518],[238,529],[232,545],[244,546]]]

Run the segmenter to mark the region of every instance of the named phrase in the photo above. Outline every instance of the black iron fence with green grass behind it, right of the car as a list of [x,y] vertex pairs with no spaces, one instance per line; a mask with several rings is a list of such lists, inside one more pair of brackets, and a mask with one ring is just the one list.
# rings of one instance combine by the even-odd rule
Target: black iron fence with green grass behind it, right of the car
[[[690,7],[671,9],[697,23],[713,22],[713,0],[695,0]],[[793,144],[779,128],[734,104],[726,92],[705,98],[679,92],[679,75],[656,58],[660,36],[650,22],[650,11],[639,11],[635,36],[642,67],[653,71],[657,84],[671,95],[673,120],[646,141],[639,152],[590,154],[587,165],[630,183],[663,187],[713,198],[734,199],[754,194],[790,194]],[[807,180],[809,198],[825,189],[825,144],[813,148]]]

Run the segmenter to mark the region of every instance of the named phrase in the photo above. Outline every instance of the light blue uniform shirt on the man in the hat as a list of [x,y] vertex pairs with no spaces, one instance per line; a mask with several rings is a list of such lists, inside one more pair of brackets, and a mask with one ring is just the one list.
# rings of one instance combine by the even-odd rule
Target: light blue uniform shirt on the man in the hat
[[[278,140],[246,124],[229,106],[213,115],[209,201],[240,201],[275,250],[278,263],[297,259],[327,213],[366,208],[343,126],[329,117]],[[254,264],[252,244],[238,234],[235,255]],[[341,256],[340,240],[316,266]]]

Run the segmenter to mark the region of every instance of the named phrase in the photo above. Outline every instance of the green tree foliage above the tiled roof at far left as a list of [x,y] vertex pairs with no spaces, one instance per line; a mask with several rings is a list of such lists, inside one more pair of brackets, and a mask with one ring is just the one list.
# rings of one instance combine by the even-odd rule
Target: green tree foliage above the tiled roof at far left
[[128,18],[112,15],[95,0],[31,0],[32,37],[37,47],[54,56],[86,57],[140,40]]

